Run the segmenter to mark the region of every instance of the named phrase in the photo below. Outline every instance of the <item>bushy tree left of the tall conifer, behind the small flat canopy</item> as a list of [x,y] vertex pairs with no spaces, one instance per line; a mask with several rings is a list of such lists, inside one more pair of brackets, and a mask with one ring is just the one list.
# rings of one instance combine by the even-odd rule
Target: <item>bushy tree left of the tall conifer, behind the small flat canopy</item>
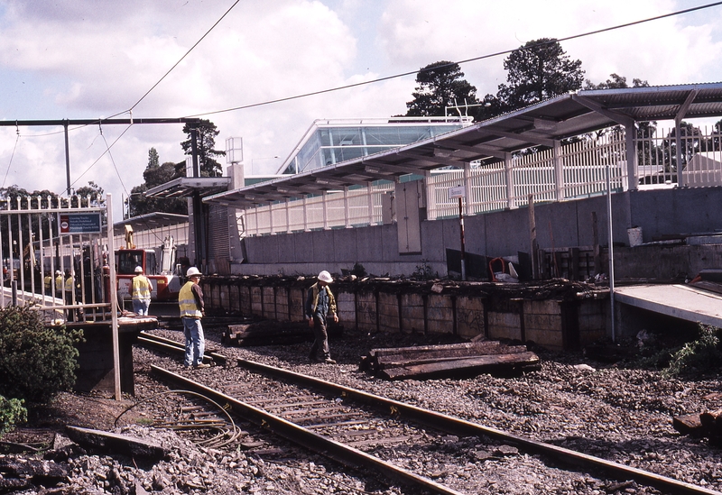
[[155,148],[148,151],[148,165],[143,170],[143,184],[131,189],[128,198],[128,214],[130,216],[147,215],[153,212],[175,213],[188,215],[188,204],[182,197],[162,198],[145,197],[143,193],[149,189],[176,179],[175,163],[166,161],[159,165],[160,156]]

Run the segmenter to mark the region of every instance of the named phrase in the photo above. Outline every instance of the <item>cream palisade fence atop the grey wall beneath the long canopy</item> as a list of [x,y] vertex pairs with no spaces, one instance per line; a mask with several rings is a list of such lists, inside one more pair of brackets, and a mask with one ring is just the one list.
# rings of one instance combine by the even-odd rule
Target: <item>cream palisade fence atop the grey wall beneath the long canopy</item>
[[[698,132],[699,131],[699,132]],[[689,133],[689,135],[688,135]],[[606,170],[612,192],[633,188],[722,186],[722,138],[713,129],[690,132],[682,128],[679,142],[671,129],[643,129],[635,146],[634,178],[628,177],[625,133],[611,129],[582,136],[554,150],[526,150],[509,160],[470,163],[466,170],[435,170],[426,174],[426,218],[458,216],[458,199],[449,188],[465,186],[464,215],[535,203],[590,197],[606,193]],[[677,149],[680,148],[678,159]],[[678,173],[677,162],[682,170]],[[333,227],[380,225],[383,197],[393,193],[393,182],[378,180],[367,188],[356,187],[274,202],[246,209],[245,235],[280,234]]]

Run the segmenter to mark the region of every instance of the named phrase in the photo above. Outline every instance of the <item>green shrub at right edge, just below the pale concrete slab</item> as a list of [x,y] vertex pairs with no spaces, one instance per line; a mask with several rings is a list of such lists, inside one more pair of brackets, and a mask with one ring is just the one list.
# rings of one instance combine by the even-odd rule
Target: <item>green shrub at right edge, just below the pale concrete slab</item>
[[722,365],[720,330],[710,325],[699,325],[699,338],[671,355],[666,376],[718,371]]

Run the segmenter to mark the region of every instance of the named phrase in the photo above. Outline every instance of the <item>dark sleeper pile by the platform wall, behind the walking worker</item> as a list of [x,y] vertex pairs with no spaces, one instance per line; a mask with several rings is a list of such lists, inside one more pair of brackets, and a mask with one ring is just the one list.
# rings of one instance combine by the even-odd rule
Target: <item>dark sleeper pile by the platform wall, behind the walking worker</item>
[[[329,339],[343,334],[343,325],[329,325]],[[285,345],[312,342],[313,330],[308,322],[276,322],[262,320],[243,325],[228,325],[221,335],[221,343],[250,347],[255,345]]]

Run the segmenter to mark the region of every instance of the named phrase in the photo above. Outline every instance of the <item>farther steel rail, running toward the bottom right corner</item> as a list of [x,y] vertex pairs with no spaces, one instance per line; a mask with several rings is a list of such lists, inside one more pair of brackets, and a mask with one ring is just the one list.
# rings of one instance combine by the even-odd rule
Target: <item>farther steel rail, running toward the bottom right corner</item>
[[304,384],[320,390],[326,390],[342,397],[365,403],[375,408],[388,408],[388,411],[392,415],[408,417],[409,419],[421,424],[447,431],[449,434],[462,436],[486,435],[501,440],[504,443],[520,446],[528,452],[548,455],[552,458],[560,459],[575,465],[591,466],[603,472],[613,474],[617,479],[631,479],[653,486],[660,490],[669,490],[672,493],[722,495],[722,492],[717,490],[710,490],[692,483],[675,480],[674,478],[662,476],[661,474],[653,472],[643,471],[631,466],[626,466],[625,464],[607,461],[606,459],[602,459],[600,457],[583,454],[557,445],[537,442],[531,438],[510,434],[489,426],[472,423],[465,419],[451,417],[437,411],[418,408],[416,406],[412,406],[411,404],[388,399],[363,390],[351,389],[328,380],[321,380],[309,375],[297,373],[295,371],[276,368],[261,362],[253,362],[245,359],[238,359],[237,362],[239,366],[243,366],[248,370],[261,372],[284,380],[290,380],[293,383]]

